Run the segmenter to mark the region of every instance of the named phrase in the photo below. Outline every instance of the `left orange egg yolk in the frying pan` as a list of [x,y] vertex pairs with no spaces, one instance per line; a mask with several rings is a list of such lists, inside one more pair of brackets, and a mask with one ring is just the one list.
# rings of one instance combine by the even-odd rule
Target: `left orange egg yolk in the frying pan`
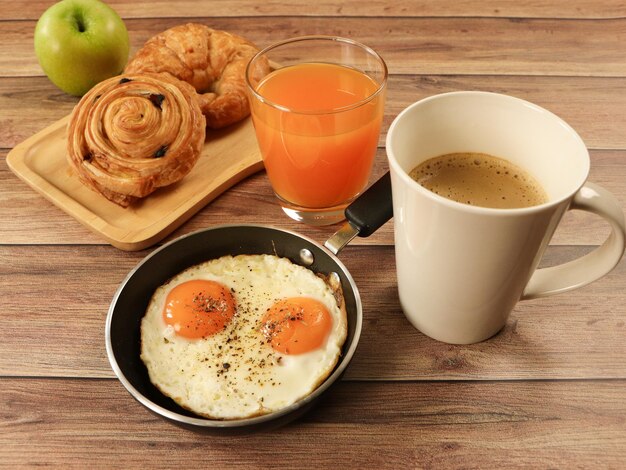
[[174,287],[165,299],[163,319],[178,336],[205,338],[222,331],[235,314],[235,298],[215,281],[193,280]]

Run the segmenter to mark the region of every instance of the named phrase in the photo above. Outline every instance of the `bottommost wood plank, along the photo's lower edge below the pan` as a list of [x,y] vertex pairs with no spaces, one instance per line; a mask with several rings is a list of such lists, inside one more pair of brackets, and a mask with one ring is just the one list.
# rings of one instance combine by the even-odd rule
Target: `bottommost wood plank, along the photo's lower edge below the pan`
[[[1,379],[3,465],[85,468],[620,468],[624,381],[340,382],[283,428],[206,436],[112,380]],[[114,465],[114,464],[113,464]]]

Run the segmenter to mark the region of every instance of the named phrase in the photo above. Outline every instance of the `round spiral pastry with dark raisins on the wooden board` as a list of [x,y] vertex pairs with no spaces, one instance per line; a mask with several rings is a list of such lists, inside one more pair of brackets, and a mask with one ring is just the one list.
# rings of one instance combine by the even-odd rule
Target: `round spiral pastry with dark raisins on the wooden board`
[[72,111],[68,161],[85,185],[127,207],[189,173],[205,132],[187,83],[167,74],[113,77]]

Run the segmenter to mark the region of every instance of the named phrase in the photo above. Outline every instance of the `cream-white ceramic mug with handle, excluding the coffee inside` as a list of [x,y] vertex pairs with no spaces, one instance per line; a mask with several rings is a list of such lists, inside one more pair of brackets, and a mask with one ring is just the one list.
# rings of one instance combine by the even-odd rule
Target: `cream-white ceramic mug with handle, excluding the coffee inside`
[[[586,182],[585,144],[539,106],[485,92],[431,96],[396,117],[386,146],[400,303],[409,321],[432,338],[483,341],[504,326],[518,300],[588,284],[624,253],[624,214],[614,196]],[[424,160],[454,152],[509,160],[538,180],[548,202],[522,209],[475,207],[438,196],[409,177]],[[610,236],[582,258],[537,269],[571,209],[606,219]]]

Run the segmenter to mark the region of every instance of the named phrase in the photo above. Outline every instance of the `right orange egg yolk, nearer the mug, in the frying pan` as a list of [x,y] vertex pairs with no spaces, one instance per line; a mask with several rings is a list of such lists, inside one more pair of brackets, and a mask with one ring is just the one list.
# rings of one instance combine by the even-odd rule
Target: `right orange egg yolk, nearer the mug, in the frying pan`
[[319,348],[332,326],[328,309],[308,297],[282,299],[263,318],[261,330],[274,350],[302,354]]

